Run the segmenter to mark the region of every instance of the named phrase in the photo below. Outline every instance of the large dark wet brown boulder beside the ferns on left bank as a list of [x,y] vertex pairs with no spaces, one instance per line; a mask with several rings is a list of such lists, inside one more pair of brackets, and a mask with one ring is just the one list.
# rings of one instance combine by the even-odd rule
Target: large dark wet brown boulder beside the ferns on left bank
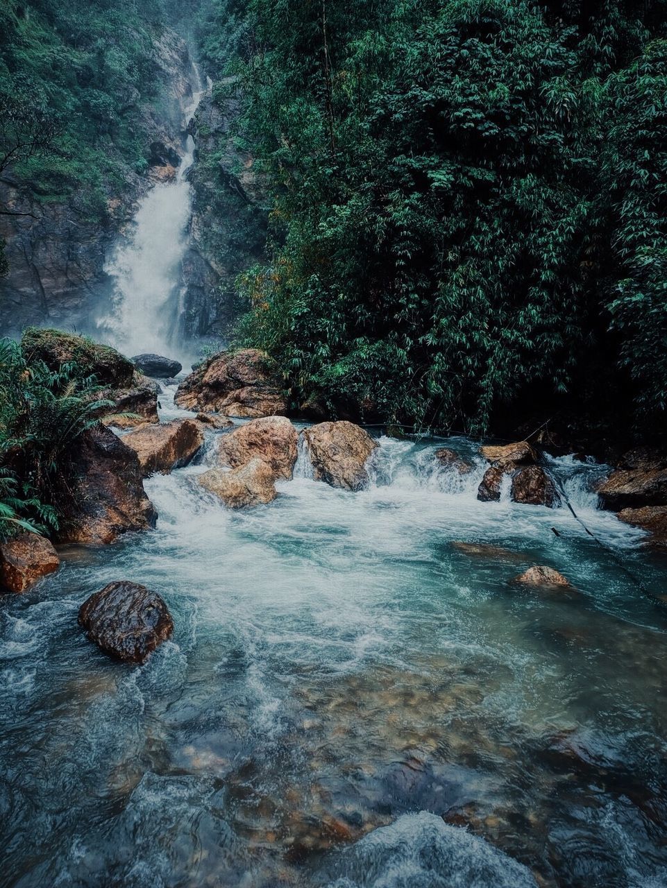
[[155,527],[139,457],[114,432],[103,425],[84,432],[71,458],[74,476],[58,497],[59,543],[112,543],[127,531]]

